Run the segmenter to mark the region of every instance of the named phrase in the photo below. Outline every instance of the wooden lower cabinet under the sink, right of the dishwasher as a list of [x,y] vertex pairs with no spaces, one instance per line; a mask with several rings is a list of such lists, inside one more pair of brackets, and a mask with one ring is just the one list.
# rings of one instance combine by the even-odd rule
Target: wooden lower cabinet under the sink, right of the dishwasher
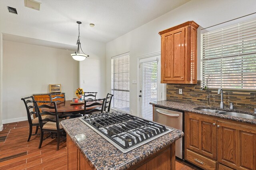
[[256,126],[186,112],[185,159],[207,170],[256,170]]

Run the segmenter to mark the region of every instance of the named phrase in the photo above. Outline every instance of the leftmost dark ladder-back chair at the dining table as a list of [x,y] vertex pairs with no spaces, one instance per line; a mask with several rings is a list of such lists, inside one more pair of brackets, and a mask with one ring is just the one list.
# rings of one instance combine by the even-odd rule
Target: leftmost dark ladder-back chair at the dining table
[[[28,99],[28,100],[27,100]],[[40,133],[37,134],[38,132],[38,127],[39,127],[39,122],[38,122],[38,112],[35,108],[34,104],[34,97],[29,96],[26,98],[21,98],[23,100],[26,111],[27,111],[27,116],[28,116],[28,123],[29,123],[29,135],[28,135],[28,142],[31,138],[32,135],[40,135]],[[35,115],[36,118],[31,119],[31,115]],[[36,126],[36,132],[32,134],[32,128],[33,126]]]

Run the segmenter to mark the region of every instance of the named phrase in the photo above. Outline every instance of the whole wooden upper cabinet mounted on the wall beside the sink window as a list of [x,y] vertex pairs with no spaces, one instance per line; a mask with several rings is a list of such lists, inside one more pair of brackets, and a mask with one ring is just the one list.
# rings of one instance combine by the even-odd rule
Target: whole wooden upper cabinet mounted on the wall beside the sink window
[[161,83],[196,84],[196,39],[194,21],[160,31]]

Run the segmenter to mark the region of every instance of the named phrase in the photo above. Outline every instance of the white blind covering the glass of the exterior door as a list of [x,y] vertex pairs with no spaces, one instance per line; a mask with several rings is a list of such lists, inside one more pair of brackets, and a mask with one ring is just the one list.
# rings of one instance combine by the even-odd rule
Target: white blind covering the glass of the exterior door
[[149,103],[157,101],[157,61],[140,63],[140,77],[141,115],[142,118],[152,121],[153,110]]

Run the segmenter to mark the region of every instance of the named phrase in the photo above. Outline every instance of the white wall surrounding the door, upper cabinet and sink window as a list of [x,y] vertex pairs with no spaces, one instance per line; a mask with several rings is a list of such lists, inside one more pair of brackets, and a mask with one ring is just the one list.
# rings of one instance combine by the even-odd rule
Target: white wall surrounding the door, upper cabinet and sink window
[[[255,9],[255,0],[192,0],[110,41],[106,45],[106,90],[111,89],[111,57],[130,52],[130,109],[136,114],[137,85],[131,82],[137,80],[137,57],[160,51],[159,31],[190,20],[194,20],[202,27],[209,27],[254,13]],[[200,51],[198,51],[198,60],[200,60]],[[200,67],[198,72],[199,70]]]

